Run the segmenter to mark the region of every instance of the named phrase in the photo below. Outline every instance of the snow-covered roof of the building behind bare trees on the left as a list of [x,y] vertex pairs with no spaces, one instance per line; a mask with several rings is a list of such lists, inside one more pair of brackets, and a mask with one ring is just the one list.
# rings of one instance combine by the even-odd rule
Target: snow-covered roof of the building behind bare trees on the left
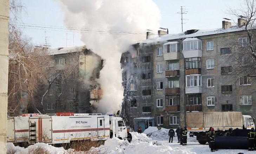
[[82,48],[85,48],[85,46],[59,47],[55,49],[49,49],[48,53],[50,55],[73,53],[73,52],[81,51]]

